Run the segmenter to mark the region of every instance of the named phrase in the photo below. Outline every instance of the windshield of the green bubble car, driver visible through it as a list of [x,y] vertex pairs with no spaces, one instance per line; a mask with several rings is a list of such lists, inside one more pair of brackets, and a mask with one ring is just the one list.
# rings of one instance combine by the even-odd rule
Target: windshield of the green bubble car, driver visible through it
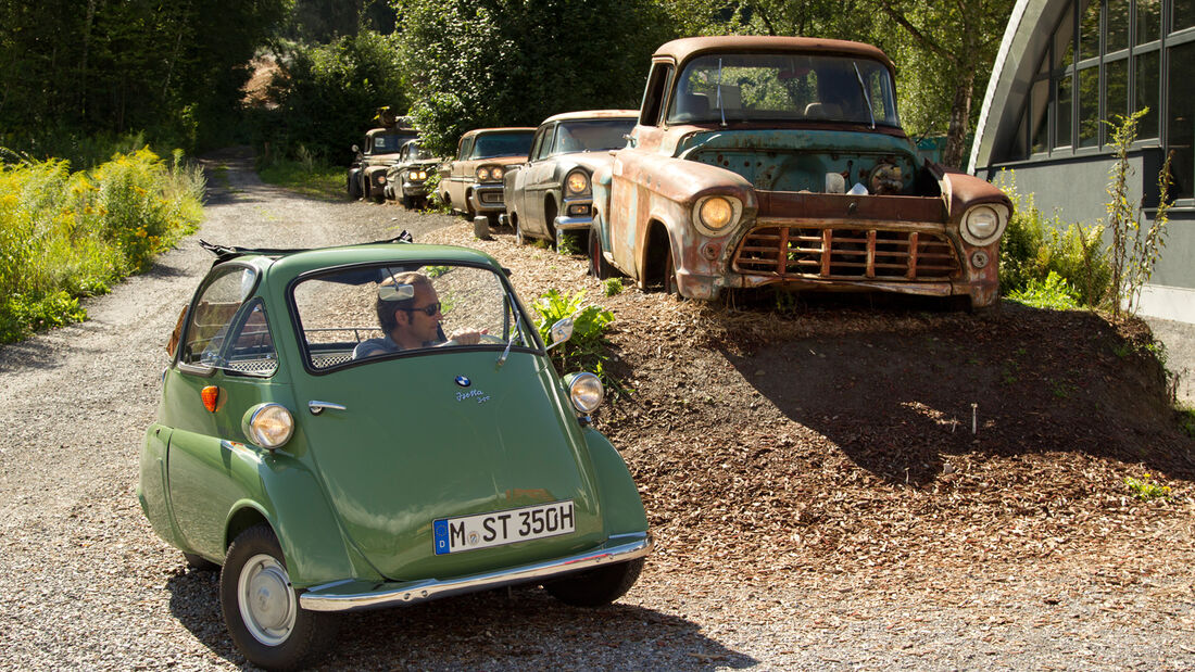
[[353,267],[304,278],[292,296],[315,371],[411,353],[539,347],[534,327],[491,269]]

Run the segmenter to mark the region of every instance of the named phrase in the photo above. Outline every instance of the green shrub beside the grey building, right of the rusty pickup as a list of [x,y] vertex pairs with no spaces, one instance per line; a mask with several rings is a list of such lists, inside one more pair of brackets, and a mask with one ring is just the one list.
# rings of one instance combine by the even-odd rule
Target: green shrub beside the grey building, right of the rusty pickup
[[1064,222],[1037,209],[1034,195],[1017,192],[1016,174],[1001,171],[997,186],[1012,199],[1013,215],[1000,240],[1000,291],[1013,296],[1035,284],[1044,286],[1050,273],[1070,288],[1079,306],[1098,307],[1109,292],[1111,264],[1103,245],[1103,227]]

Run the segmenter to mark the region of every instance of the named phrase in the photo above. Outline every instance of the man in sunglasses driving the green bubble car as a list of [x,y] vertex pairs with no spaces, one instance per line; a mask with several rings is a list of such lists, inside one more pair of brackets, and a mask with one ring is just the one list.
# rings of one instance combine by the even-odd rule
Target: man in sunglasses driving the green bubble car
[[485,333],[485,329],[462,329],[445,340],[440,297],[431,280],[418,272],[382,280],[378,285],[376,310],[385,335],[358,343],[353,349],[354,359],[447,344],[477,345]]

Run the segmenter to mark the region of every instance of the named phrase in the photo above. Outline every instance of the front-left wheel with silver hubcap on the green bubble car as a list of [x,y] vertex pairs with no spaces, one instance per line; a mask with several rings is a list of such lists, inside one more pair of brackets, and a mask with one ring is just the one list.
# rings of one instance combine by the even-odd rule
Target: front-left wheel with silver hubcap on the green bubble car
[[269,670],[304,665],[336,635],[332,617],[300,609],[282,548],[265,524],[245,530],[229,547],[220,609],[240,653]]

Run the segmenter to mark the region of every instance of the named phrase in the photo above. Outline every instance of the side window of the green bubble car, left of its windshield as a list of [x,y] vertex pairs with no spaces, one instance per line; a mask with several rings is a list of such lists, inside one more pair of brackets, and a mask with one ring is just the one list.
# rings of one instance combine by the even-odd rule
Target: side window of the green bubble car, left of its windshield
[[257,272],[249,267],[216,271],[188,316],[180,365],[251,376],[277,370],[265,306],[250,300],[256,283]]

